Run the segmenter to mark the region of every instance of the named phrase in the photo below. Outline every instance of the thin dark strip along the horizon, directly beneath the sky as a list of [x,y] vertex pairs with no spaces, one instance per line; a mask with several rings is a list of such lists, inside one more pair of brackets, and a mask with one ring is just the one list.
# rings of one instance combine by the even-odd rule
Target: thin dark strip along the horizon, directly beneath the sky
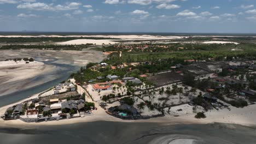
[[156,32],[0,32],[0,35],[236,35],[255,36],[255,33],[156,33]]

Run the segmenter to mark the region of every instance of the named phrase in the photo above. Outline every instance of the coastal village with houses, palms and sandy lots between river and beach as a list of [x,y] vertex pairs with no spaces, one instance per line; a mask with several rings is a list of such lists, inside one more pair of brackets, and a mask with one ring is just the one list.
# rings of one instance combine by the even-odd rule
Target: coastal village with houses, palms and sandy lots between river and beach
[[[109,50],[121,47],[126,51],[150,49],[142,44],[113,45]],[[137,62],[134,59],[124,62],[118,59],[122,57],[121,51],[105,51],[103,55],[109,57],[82,67],[67,81],[40,93],[38,98],[9,107],[1,118],[47,122],[86,118],[97,115],[95,112],[99,110],[121,119],[189,114],[205,118],[207,111],[245,107],[256,101],[256,64],[251,59],[184,59],[172,62],[166,70],[152,72],[158,65],[155,61],[160,63],[161,59],[137,58]]]

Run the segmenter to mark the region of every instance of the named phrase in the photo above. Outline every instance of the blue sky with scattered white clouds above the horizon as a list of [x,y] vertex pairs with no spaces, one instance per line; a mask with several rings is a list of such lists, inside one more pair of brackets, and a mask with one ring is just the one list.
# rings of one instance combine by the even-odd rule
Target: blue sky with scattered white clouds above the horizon
[[256,33],[255,0],[0,0],[0,31]]

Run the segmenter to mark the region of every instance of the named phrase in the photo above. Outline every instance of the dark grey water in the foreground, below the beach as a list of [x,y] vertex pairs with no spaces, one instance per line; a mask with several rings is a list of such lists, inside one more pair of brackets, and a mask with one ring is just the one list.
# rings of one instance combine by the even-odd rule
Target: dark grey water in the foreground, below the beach
[[254,128],[233,124],[160,125],[155,123],[89,122],[37,128],[1,128],[0,143],[150,143],[162,136],[186,135],[201,143],[255,144]]

